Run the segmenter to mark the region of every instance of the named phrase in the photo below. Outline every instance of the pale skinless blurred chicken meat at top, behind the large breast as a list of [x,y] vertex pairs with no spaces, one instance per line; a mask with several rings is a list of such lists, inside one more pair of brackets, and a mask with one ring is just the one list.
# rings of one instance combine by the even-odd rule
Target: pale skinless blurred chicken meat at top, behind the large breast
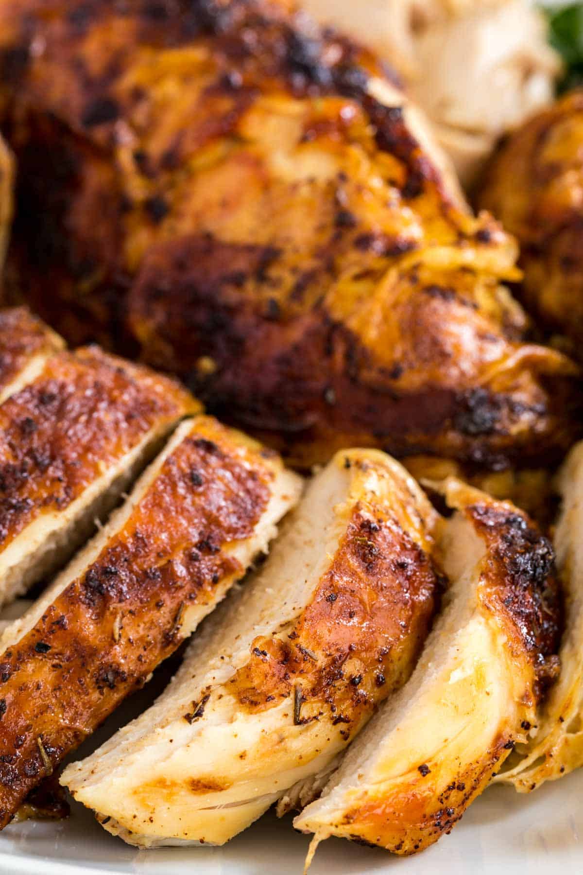
[[551,102],[561,62],[529,0],[302,0],[396,66],[471,185],[503,133]]

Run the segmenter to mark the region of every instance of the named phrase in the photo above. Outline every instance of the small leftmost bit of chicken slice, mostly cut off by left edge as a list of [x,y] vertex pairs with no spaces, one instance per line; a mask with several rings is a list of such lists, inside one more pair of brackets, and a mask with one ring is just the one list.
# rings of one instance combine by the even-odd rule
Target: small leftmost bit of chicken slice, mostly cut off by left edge
[[38,377],[49,357],[64,346],[59,334],[26,307],[1,310],[0,403]]

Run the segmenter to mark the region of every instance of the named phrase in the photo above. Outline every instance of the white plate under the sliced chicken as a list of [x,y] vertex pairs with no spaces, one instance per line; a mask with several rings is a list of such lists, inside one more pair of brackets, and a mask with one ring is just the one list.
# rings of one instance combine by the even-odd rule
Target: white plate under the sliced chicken
[[[574,875],[583,872],[583,772],[529,796],[490,788],[450,836],[417,857],[330,839],[310,875]],[[0,835],[5,875],[301,875],[308,837],[269,813],[223,848],[136,851],[73,805],[60,823],[17,823]]]

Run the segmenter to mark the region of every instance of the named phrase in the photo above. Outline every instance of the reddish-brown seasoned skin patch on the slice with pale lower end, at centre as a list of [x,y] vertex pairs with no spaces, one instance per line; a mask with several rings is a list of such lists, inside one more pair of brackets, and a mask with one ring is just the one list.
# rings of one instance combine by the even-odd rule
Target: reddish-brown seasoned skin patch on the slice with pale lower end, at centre
[[431,556],[395,517],[357,505],[287,640],[255,639],[227,690],[253,713],[289,698],[296,725],[322,719],[347,742],[410,676],[440,579]]

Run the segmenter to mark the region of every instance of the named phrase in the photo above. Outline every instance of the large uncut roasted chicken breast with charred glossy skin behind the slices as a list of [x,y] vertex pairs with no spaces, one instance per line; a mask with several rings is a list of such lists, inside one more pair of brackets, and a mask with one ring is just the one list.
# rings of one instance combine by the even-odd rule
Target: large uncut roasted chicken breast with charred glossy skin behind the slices
[[566,448],[572,367],[521,342],[515,243],[364,50],[262,0],[4,0],[0,62],[10,270],[67,339],[135,341],[298,465]]

